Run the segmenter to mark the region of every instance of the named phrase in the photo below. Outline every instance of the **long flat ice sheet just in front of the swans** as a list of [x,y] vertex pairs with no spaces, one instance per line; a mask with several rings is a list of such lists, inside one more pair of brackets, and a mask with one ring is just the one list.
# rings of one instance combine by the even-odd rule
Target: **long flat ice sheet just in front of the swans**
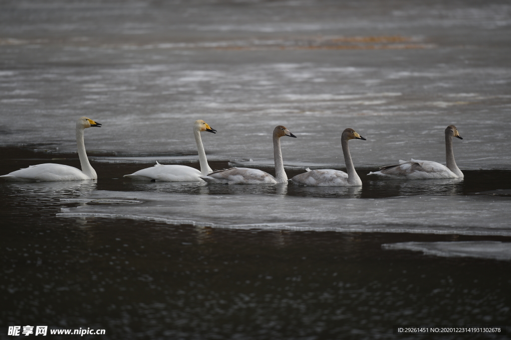
[[[200,190],[200,195],[95,191],[80,198],[80,206],[64,209],[59,215],[233,229],[511,236],[509,200],[500,197],[336,199],[278,194],[207,195],[208,185],[200,185]],[[281,190],[285,193],[287,187],[282,186]],[[98,204],[98,200],[105,204]],[[108,204],[110,200],[116,203]],[[126,205],[120,204],[123,200]]]

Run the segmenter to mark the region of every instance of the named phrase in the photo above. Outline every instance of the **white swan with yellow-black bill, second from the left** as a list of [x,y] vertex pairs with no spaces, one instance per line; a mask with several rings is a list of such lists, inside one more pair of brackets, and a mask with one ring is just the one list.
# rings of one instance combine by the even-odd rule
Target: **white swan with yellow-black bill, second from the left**
[[206,153],[200,138],[200,132],[207,131],[217,133],[217,130],[212,129],[204,120],[198,119],[193,124],[193,133],[195,135],[195,142],[197,143],[197,150],[199,152],[200,171],[196,168],[186,165],[162,165],[156,162],[156,165],[139,170],[131,175],[124,175],[134,180],[140,181],[166,181],[166,182],[188,182],[200,181],[200,176],[205,176],[213,172],[210,165],[207,164]]

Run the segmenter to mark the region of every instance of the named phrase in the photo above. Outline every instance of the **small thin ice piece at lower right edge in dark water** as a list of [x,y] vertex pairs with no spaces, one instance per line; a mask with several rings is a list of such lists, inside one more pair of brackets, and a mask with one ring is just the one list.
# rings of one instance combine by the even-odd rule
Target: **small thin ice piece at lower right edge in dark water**
[[399,242],[382,245],[383,249],[411,250],[425,255],[443,257],[479,257],[511,260],[511,242],[458,241],[458,242]]

